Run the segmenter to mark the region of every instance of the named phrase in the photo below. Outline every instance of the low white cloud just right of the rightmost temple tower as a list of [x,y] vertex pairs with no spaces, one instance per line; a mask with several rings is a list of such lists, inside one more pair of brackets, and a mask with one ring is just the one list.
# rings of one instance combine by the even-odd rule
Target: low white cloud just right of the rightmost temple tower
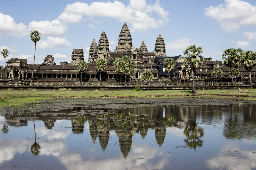
[[194,43],[190,41],[191,41],[190,38],[182,38],[180,40],[175,40],[168,43],[167,45],[165,45],[165,47],[166,47],[166,50],[185,50],[186,47],[192,44],[196,44],[196,46],[202,45],[201,43],[197,43],[197,42]]

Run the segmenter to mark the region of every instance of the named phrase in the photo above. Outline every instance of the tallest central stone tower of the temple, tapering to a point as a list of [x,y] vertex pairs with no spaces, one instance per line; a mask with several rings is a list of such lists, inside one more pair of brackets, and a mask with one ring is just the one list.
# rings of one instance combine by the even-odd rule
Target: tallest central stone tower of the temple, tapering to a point
[[116,52],[127,51],[132,48],[132,38],[129,28],[124,23],[118,38],[118,45],[116,46]]

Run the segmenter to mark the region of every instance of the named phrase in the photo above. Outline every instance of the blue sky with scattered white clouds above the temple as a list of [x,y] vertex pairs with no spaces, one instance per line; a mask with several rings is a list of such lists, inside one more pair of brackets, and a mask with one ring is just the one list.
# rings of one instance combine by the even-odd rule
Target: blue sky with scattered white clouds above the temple
[[[33,64],[35,43],[30,33],[37,30],[35,64],[47,55],[54,61],[70,63],[72,50],[83,49],[88,62],[92,40],[97,44],[105,31],[114,51],[126,22],[132,45],[145,42],[154,51],[162,35],[167,56],[182,55],[189,45],[203,49],[204,58],[222,60],[228,48],[256,51],[256,1],[247,0],[1,0],[0,50],[10,58],[26,58]],[[0,57],[4,66],[4,57]]]

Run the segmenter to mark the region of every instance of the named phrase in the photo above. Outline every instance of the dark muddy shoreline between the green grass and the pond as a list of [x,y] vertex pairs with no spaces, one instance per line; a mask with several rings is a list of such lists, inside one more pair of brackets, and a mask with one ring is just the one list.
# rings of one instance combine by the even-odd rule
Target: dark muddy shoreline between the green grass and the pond
[[124,109],[149,105],[228,105],[228,104],[256,104],[256,100],[210,98],[210,97],[184,97],[184,98],[72,98],[72,99],[42,99],[37,103],[23,104],[21,106],[6,106],[0,109],[0,114],[6,110],[26,110],[28,112],[61,111],[74,107],[88,106],[94,109]]

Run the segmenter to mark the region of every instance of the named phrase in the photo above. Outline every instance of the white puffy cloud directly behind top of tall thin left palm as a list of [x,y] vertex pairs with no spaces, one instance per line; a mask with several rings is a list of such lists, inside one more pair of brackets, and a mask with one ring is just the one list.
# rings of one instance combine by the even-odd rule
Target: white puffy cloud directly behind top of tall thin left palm
[[29,31],[37,30],[41,36],[61,36],[66,33],[68,27],[59,20],[49,21],[32,21],[28,25]]

